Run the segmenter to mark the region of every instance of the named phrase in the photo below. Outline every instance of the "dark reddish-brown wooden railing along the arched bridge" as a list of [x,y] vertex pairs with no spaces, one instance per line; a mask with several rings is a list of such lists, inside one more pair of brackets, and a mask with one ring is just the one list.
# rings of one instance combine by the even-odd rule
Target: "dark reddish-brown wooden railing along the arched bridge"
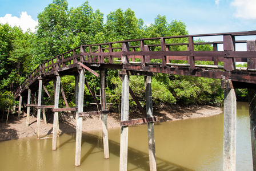
[[[256,58],[255,50],[235,51],[235,44],[247,42],[247,40],[235,41],[235,36],[249,35],[256,35],[256,31],[169,36],[82,45],[40,64],[27,76],[25,81],[21,83],[15,96],[17,97],[23,89],[35,82],[38,76],[53,74],[55,71],[64,67],[76,67],[78,62],[121,65],[123,56],[126,56],[127,64],[142,66],[153,64],[161,67],[183,66],[188,67],[190,70],[194,70],[196,67],[208,67],[224,71],[236,71],[239,69],[254,72],[256,71],[255,66],[250,68],[235,67],[235,62],[247,62],[249,59],[251,62],[251,60],[254,61]],[[223,40],[202,43],[194,41],[194,38],[204,36],[223,36]],[[194,50],[194,46],[203,44],[213,46],[213,51]],[[218,44],[223,44],[223,51],[218,51]],[[175,47],[183,47],[184,50],[174,51]],[[171,63],[172,60],[183,60],[183,64]],[[212,61],[213,63],[206,66],[198,65],[195,61]],[[223,62],[223,66],[219,66],[219,62]]]

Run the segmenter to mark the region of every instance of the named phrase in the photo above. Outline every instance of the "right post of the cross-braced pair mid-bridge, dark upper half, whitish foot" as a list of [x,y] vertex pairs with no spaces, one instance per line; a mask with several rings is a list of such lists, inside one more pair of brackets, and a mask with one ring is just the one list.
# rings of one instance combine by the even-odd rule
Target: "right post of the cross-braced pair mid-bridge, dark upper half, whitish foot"
[[[151,76],[145,76],[145,93],[146,93],[146,113],[147,117],[153,117],[153,102],[151,89]],[[147,137],[149,140],[149,165],[150,170],[157,170],[157,161],[155,158],[155,133],[154,123],[147,123]]]

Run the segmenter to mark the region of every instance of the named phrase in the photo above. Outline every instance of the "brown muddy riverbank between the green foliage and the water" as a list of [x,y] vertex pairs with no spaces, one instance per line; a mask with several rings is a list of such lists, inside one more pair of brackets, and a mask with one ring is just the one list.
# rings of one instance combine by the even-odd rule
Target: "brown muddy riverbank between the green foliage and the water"
[[[218,107],[211,107],[209,105],[194,106],[190,108],[170,108],[158,109],[154,111],[154,116],[158,121],[174,121],[181,119],[189,119],[195,117],[208,117],[222,113]],[[141,113],[130,113],[129,119],[136,119],[143,117]],[[53,133],[53,123],[44,124],[43,120],[40,123],[40,135],[51,135]],[[110,113],[107,117],[107,127],[120,127],[120,120],[117,113]],[[82,131],[93,131],[102,128],[102,122],[97,116],[86,117],[83,121]],[[75,121],[65,121],[59,123],[60,133],[75,132]],[[21,139],[23,137],[37,136],[37,118],[30,117],[30,125],[26,126],[26,116],[21,116],[18,120],[16,116],[12,116],[7,125],[5,121],[0,123],[0,141]]]

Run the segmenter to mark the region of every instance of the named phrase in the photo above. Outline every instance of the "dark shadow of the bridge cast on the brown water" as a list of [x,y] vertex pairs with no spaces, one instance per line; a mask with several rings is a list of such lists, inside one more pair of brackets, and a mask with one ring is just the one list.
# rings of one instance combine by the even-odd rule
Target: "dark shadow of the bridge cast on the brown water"
[[[71,125],[67,125],[67,127],[71,127],[70,129],[75,129]],[[61,150],[61,147],[65,144],[67,144],[67,143],[74,143],[75,133],[71,133],[70,135],[71,135],[70,139],[66,140],[65,142],[63,142],[63,143],[61,143],[57,146],[57,148],[59,150]],[[94,151],[95,148],[101,149],[100,152],[103,151],[103,143],[102,143],[101,139],[102,139],[101,134],[99,134],[97,136],[97,135],[93,135],[93,134],[87,133],[87,132],[82,133],[82,145],[84,143],[88,143],[88,144],[91,145],[91,147],[90,147],[90,149],[87,149],[87,152],[83,156],[81,156],[81,165],[82,165],[83,162],[86,161],[86,159],[91,154],[93,154],[93,151]],[[101,141],[101,143],[99,143],[99,141]],[[116,142],[116,141],[113,141],[113,140],[109,140],[109,147],[110,147],[110,153],[119,157],[120,143]],[[83,148],[82,148],[82,150],[83,150]],[[162,171],[166,171],[166,170],[190,170],[190,169],[184,168],[182,166],[175,165],[174,163],[172,163],[170,161],[163,160],[162,158],[159,158],[159,157],[156,157],[156,161],[157,161],[157,170],[162,170]],[[150,170],[150,168],[149,168],[149,154],[145,153],[145,152],[142,152],[141,150],[128,147],[128,164],[132,164],[132,165],[135,166],[135,168],[129,169],[130,171],[131,170],[136,170],[136,169]]]

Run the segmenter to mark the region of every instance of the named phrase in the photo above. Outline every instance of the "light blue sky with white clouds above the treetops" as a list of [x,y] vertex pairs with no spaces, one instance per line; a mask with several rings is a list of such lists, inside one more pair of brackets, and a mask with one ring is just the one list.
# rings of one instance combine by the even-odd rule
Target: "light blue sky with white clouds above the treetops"
[[[19,25],[23,30],[35,31],[37,15],[52,0],[0,0],[0,22]],[[85,0],[67,0],[70,7],[78,7]],[[90,1],[93,10],[99,9],[106,22],[111,11],[130,7],[144,25],[154,23],[158,14],[167,22],[174,19],[185,23],[189,34],[256,30],[256,0],[97,0]],[[205,38],[207,40],[207,38]],[[254,38],[253,38],[254,39]],[[256,39],[256,38],[255,38]]]

